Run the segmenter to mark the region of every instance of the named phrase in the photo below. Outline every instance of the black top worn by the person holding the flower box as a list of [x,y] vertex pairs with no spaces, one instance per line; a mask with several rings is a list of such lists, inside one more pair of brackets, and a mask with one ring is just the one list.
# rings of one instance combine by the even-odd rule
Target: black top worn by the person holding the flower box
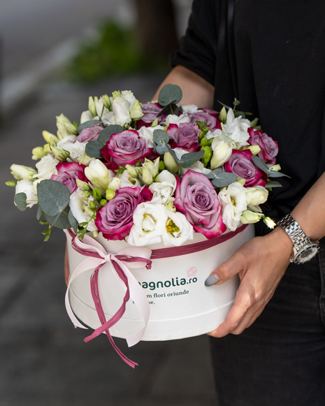
[[[222,3],[194,0],[182,50],[171,55],[172,66],[215,86],[216,110],[217,100],[232,106],[235,96],[229,59],[218,57]],[[277,163],[291,176],[280,178],[283,187],[263,205],[279,219],[325,171],[325,1],[236,1],[234,50],[240,110],[259,117],[279,144]]]

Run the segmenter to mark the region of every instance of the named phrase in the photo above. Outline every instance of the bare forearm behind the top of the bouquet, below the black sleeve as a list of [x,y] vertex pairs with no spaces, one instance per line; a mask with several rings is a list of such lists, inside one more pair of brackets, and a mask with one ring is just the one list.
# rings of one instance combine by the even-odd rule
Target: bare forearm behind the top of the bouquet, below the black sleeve
[[166,76],[164,82],[159,86],[153,100],[158,99],[161,87],[167,83],[178,85],[182,89],[182,104],[195,104],[199,107],[208,108],[213,107],[215,87],[184,66],[178,65],[173,68],[171,73]]

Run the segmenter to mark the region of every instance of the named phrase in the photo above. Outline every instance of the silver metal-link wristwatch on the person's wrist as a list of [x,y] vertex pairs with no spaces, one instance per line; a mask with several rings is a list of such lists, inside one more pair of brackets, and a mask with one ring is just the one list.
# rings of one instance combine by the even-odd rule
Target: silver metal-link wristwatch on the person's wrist
[[294,242],[294,253],[289,258],[291,262],[303,263],[312,259],[319,251],[319,244],[305,235],[301,226],[291,215],[286,215],[277,222],[278,226],[289,235],[291,241]]

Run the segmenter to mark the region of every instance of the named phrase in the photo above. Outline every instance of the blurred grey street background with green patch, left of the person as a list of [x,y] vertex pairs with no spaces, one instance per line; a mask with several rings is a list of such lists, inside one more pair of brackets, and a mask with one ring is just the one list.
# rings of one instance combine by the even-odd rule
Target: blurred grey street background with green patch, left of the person
[[131,89],[150,101],[169,71],[191,0],[1,0],[0,405],[215,405],[208,338],[85,344],[64,307],[64,234],[43,242],[36,208],[13,205],[11,164],[80,120],[88,96]]

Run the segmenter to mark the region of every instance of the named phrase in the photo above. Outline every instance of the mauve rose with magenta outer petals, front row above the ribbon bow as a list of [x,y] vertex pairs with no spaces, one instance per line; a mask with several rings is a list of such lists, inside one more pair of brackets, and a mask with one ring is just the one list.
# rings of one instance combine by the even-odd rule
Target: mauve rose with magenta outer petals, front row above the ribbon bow
[[148,187],[122,187],[115,198],[96,212],[95,224],[106,240],[123,240],[133,226],[133,212],[138,204],[150,201],[152,192]]

